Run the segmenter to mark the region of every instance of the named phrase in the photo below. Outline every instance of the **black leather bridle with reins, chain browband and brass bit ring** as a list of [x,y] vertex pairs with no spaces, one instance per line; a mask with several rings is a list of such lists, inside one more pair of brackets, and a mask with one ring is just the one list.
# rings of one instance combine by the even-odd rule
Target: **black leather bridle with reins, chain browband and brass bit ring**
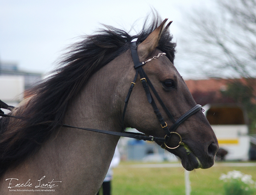
[[[203,110],[201,105],[196,105],[193,108],[191,108],[188,112],[186,112],[185,114],[183,114],[178,120],[175,121],[175,119],[173,118],[172,114],[169,112],[169,110],[167,109],[167,107],[164,105],[164,102],[161,100],[161,98],[159,97],[159,95],[157,94],[154,86],[152,85],[152,83],[150,82],[148,76],[146,75],[146,73],[144,72],[142,66],[145,65],[147,62],[159,58],[162,55],[166,55],[165,53],[159,53],[157,56],[154,56],[151,59],[148,59],[147,61],[143,61],[140,62],[139,61],[139,56],[137,53],[137,46],[136,46],[136,41],[131,42],[131,52],[132,52],[132,59],[133,59],[133,63],[134,63],[134,69],[136,71],[136,74],[134,76],[134,79],[131,83],[130,89],[128,91],[128,94],[125,98],[125,104],[124,104],[124,111],[123,111],[123,116],[122,116],[122,129],[124,129],[124,116],[125,116],[125,112],[126,112],[126,108],[129,102],[129,98],[131,96],[132,93],[132,89],[135,85],[135,82],[137,80],[138,75],[140,75],[140,81],[142,83],[142,86],[146,92],[146,96],[148,98],[148,102],[149,104],[152,105],[154,112],[156,113],[157,119],[160,122],[161,127],[163,128],[164,132],[165,132],[165,137],[153,137],[153,136],[146,136],[145,134],[142,133],[133,133],[133,132],[114,132],[114,131],[107,131],[107,130],[100,130],[100,129],[91,129],[91,128],[83,128],[83,127],[76,127],[76,126],[71,126],[71,125],[67,125],[67,124],[59,124],[59,126],[62,127],[68,127],[68,128],[76,128],[76,129],[82,129],[82,130],[87,130],[87,131],[93,131],[93,132],[98,132],[98,133],[103,133],[103,134],[110,134],[110,135],[116,135],[116,136],[122,136],[122,137],[129,137],[129,138],[134,138],[134,139],[138,139],[138,140],[144,140],[144,141],[156,141],[157,143],[162,143],[161,147],[162,148],[169,148],[169,149],[175,149],[178,148],[180,145],[184,145],[184,143],[182,142],[182,138],[180,136],[180,134],[178,134],[177,132],[175,132],[175,130],[178,128],[178,126],[180,126],[181,123],[183,123],[186,119],[188,119],[191,115],[195,114],[196,112],[198,112],[199,110]],[[158,100],[158,102],[160,103],[160,105],[163,107],[164,111],[166,112],[166,114],[168,115],[168,117],[172,120],[173,124],[170,127],[170,129],[168,129],[167,123],[164,121],[164,118],[162,117],[162,114],[160,113],[159,109],[156,106],[156,103],[150,93],[149,87],[151,88],[151,90],[153,91],[156,99]],[[14,108],[13,106],[9,106],[7,104],[5,104],[4,102],[2,102],[0,100],[0,109],[4,108],[4,109],[8,109],[11,110]],[[8,114],[4,114],[4,112],[2,112],[0,110],[0,116],[2,117],[12,117],[12,118],[16,118],[16,119],[22,119],[22,120],[27,120],[24,117],[19,117],[19,116],[12,116],[12,115],[8,115]],[[166,145],[166,143],[170,140],[170,137],[172,134],[176,134],[179,136],[179,143],[176,147],[174,148],[170,148]]]

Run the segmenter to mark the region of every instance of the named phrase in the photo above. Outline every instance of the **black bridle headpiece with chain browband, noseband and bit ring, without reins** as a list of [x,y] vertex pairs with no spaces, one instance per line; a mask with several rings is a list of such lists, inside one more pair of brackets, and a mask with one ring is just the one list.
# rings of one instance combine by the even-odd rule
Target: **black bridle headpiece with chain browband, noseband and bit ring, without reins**
[[[127,108],[127,105],[128,105],[128,101],[129,101],[129,98],[131,96],[131,93],[132,93],[132,89],[135,85],[135,82],[137,80],[137,77],[138,77],[138,74],[140,75],[140,81],[142,83],[142,86],[146,92],[146,96],[148,98],[148,102],[149,104],[152,105],[153,109],[154,109],[154,112],[156,113],[156,116],[157,116],[157,119],[159,120],[160,122],[160,125],[161,127],[163,128],[164,132],[165,132],[165,137],[164,137],[164,141],[163,141],[163,144],[161,145],[162,148],[169,148],[169,149],[175,149],[175,148],[178,148],[180,145],[183,145],[183,142],[182,142],[182,138],[180,136],[180,134],[178,134],[177,132],[175,132],[175,130],[178,128],[178,126],[180,126],[181,123],[183,123],[186,119],[188,119],[191,115],[195,114],[196,112],[198,112],[199,110],[202,109],[202,106],[201,105],[196,105],[194,106],[193,108],[191,108],[188,112],[186,112],[185,114],[183,114],[177,121],[175,121],[175,119],[173,118],[171,112],[169,112],[169,110],[167,109],[167,107],[164,105],[164,102],[162,101],[162,99],[159,97],[158,93],[156,92],[153,84],[150,82],[148,76],[146,75],[146,73],[144,72],[142,66],[145,65],[148,61],[151,61],[153,59],[156,59],[156,58],[159,58],[160,56],[162,55],[166,55],[165,53],[159,53],[157,56],[154,56],[153,58],[151,59],[148,59],[147,61],[143,61],[143,62],[140,62],[139,60],[139,56],[138,56],[138,53],[137,53],[137,46],[136,46],[136,41],[134,42],[131,42],[131,52],[132,52],[132,60],[133,60],[133,63],[134,63],[134,69],[136,70],[136,74],[135,74],[135,77],[131,83],[131,86],[130,86],[130,89],[129,89],[129,92],[125,98],[125,105],[124,105],[124,112],[123,112],[123,117],[122,117],[122,126],[124,129],[124,116],[125,116],[125,112],[126,112],[126,108]],[[151,90],[153,91],[156,99],[158,100],[158,102],[160,103],[160,105],[163,107],[164,111],[166,112],[166,114],[168,115],[168,117],[172,120],[173,124],[172,126],[170,127],[170,129],[168,128],[168,125],[167,123],[164,121],[164,118],[162,117],[162,114],[160,113],[159,109],[157,108],[156,106],[156,102],[154,101],[151,93],[150,93],[150,90],[149,90],[149,87],[151,88]],[[179,144],[178,146],[174,147],[174,148],[170,148],[166,145],[166,143],[170,140],[170,137],[172,134],[176,134],[179,136],[180,138],[180,141],[179,141]]]

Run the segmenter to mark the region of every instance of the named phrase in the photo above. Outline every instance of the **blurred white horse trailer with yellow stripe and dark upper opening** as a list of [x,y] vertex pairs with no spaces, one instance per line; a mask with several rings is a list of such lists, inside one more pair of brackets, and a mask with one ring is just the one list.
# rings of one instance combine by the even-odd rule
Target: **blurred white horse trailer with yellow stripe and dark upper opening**
[[228,152],[225,160],[249,160],[250,136],[243,109],[234,104],[207,104],[203,109],[219,147]]

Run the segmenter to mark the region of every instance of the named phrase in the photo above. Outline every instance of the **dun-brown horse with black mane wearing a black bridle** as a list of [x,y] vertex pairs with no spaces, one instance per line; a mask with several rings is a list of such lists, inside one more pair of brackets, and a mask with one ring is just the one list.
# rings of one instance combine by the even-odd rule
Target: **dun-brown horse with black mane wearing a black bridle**
[[106,26],[70,46],[54,74],[1,118],[0,194],[96,194],[126,127],[186,170],[212,167],[218,141],[173,65],[166,21],[145,22],[135,36]]

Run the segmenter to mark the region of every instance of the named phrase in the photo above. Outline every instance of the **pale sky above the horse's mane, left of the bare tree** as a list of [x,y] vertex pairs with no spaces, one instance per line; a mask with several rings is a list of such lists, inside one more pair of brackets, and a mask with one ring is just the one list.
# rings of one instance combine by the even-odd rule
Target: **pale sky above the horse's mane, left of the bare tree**
[[207,1],[0,0],[0,61],[46,74],[56,68],[65,48],[80,36],[92,34],[101,24],[129,31],[136,22],[134,28],[139,32],[154,8],[162,19],[173,20],[170,32],[178,50],[174,64],[186,77],[186,65],[179,63],[179,39],[183,35],[179,25],[187,11]]

